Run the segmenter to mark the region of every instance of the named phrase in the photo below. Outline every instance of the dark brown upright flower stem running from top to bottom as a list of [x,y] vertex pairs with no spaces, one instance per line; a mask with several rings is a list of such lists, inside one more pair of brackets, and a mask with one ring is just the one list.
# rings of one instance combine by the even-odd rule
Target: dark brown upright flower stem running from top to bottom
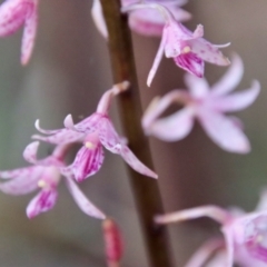
[[[113,83],[123,80],[130,82],[130,89],[118,96],[121,123],[130,149],[142,162],[151,167],[149,144],[140,125],[141,103],[127,16],[120,13],[120,0],[101,0],[101,4],[109,34],[108,44]],[[142,227],[149,266],[170,267],[171,257],[168,250],[167,230],[165,227],[154,224],[154,216],[162,214],[158,184],[131,168],[128,168],[128,171]]]

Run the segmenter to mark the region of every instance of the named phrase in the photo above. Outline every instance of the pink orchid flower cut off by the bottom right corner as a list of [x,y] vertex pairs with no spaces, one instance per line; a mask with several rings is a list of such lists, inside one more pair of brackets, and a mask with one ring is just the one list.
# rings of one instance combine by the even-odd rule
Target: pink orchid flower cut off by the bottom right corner
[[[222,209],[217,206],[202,206],[178,212],[156,216],[157,224],[171,224],[209,217],[221,225],[224,239],[210,239],[191,257],[186,267],[201,267],[211,255],[219,250],[209,267],[267,266],[267,191],[261,195],[255,211],[246,214],[239,208]],[[221,257],[222,255],[222,257]]]

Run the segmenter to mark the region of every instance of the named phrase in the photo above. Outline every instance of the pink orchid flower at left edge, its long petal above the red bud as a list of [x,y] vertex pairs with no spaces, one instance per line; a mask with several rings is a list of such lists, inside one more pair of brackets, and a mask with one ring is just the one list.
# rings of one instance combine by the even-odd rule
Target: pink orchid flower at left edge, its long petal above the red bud
[[[14,170],[0,171],[0,178],[9,179],[0,182],[0,190],[9,195],[26,195],[40,189],[40,192],[30,201],[27,207],[27,216],[33,218],[41,212],[53,208],[58,191],[57,187],[61,179],[61,174],[65,174],[63,157],[68,146],[59,145],[53,154],[44,159],[37,159],[37,150],[39,142],[34,141],[27,146],[23,157],[32,166]],[[72,195],[79,208],[87,215],[105,219],[106,216],[83,195],[83,192],[75,184],[73,178],[66,176],[67,187]]]

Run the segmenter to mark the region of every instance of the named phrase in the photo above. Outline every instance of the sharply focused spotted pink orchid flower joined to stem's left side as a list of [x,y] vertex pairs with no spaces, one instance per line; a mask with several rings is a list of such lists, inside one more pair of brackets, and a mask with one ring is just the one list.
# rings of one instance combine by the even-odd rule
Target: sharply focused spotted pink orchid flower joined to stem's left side
[[50,136],[36,135],[33,138],[51,144],[81,141],[83,146],[78,151],[73,164],[65,168],[66,174],[73,174],[77,181],[85,180],[100,169],[105,158],[102,146],[112,154],[120,155],[136,171],[157,178],[157,175],[132,154],[126,145],[126,140],[118,136],[108,116],[111,99],[128,87],[129,82],[113,86],[112,89],[103,93],[98,103],[97,111],[77,125],[73,123],[71,115],[65,119],[66,128],[59,130],[43,130],[40,128],[38,120],[36,123],[37,129]]

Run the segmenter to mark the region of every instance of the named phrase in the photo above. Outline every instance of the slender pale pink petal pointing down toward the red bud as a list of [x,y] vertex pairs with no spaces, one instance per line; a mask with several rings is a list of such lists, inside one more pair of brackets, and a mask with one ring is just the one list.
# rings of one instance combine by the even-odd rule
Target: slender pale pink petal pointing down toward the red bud
[[71,178],[67,177],[66,182],[75,201],[85,214],[98,219],[106,218],[106,215],[85,196]]

